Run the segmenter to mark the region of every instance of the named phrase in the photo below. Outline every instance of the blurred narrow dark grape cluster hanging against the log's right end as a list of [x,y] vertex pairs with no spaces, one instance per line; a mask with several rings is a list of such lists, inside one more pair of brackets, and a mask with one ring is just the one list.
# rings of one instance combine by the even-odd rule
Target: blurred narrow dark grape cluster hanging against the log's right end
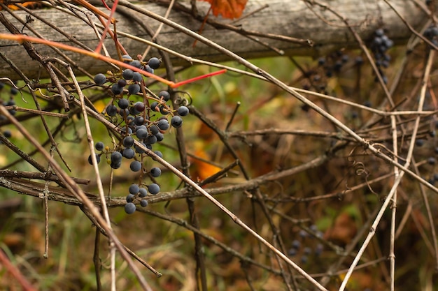
[[[390,47],[393,47],[393,45],[393,40],[390,40],[390,38],[386,36],[383,29],[376,29],[376,31],[374,31],[374,38],[372,39],[369,48],[374,54],[374,62],[385,84],[388,83],[388,77],[383,73],[383,68],[388,68],[389,66],[391,57],[387,51]],[[377,82],[378,80],[379,79],[376,77],[375,81]]]

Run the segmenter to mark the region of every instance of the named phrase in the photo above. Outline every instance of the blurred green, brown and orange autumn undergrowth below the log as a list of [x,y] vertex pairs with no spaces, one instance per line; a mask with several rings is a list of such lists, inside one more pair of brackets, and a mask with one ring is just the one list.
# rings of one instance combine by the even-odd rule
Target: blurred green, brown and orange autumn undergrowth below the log
[[[376,29],[390,33],[385,27]],[[249,72],[248,66],[236,59],[221,64],[228,68],[226,74],[176,89],[176,96],[190,101],[191,114],[183,119],[181,128],[183,138],[178,137],[176,128],[171,128],[164,141],[154,145],[154,150],[162,151],[164,160],[180,170],[184,169],[181,156],[186,151],[188,173],[197,183],[238,161],[238,165],[203,184],[203,188],[324,288],[339,290],[348,268],[355,267],[354,258],[360,258],[348,280],[348,290],[379,291],[391,287],[416,290],[418,286],[433,290],[438,287],[434,225],[438,151],[433,50],[436,47],[431,45],[435,45],[438,33],[421,34],[425,39],[417,39],[415,45],[388,47],[385,54],[390,57],[389,64],[387,68],[380,64],[376,71],[372,64],[380,57],[373,45],[379,33],[363,40],[369,52],[374,53],[372,59],[367,59],[363,50],[340,48],[319,59],[251,60],[254,66],[297,90],[366,142],[340,130],[339,124],[321,116],[275,82],[236,73],[233,69]],[[162,66],[155,74],[166,75],[174,69]],[[211,66],[181,69],[176,80],[188,80],[213,70],[216,68]],[[386,84],[376,80],[377,73],[381,81],[386,79]],[[0,96],[6,106],[13,106],[8,101],[14,100],[16,107],[6,109],[17,112],[1,121],[2,136],[6,137],[9,131],[8,140],[12,144],[24,153],[34,151],[32,158],[47,167],[48,159],[11,124],[16,118],[40,144],[48,140],[41,119],[37,115],[29,117],[25,110],[34,108],[29,87],[23,80],[14,85],[6,77],[2,79]],[[108,88],[95,86],[90,76],[76,79],[84,95],[108,119],[104,110],[113,100]],[[155,94],[169,89],[165,84],[150,82],[150,78],[145,80],[147,88]],[[32,84],[50,82],[38,80]],[[58,102],[59,92],[45,89],[35,92],[41,107],[52,106],[47,111],[67,113]],[[73,95],[77,100],[78,92]],[[79,108],[73,104],[71,112]],[[69,171],[64,165],[63,170],[71,177],[89,179],[81,188],[101,207],[95,172],[87,162],[90,140],[84,116],[79,111],[67,114],[69,119],[64,124],[59,116],[45,117],[59,152],[71,168]],[[90,117],[89,121],[94,144],[101,141],[111,145],[112,136],[117,134],[108,134],[111,130],[97,118]],[[57,131],[59,124],[62,126]],[[29,161],[14,154],[10,146],[1,146],[3,170],[35,172]],[[45,149],[53,151],[50,142]],[[389,163],[384,156],[395,162]],[[62,163],[59,154],[53,152],[53,157]],[[400,165],[407,162],[411,173],[398,185],[403,170]],[[134,262],[152,290],[319,288],[262,244],[260,237],[236,225],[236,219],[233,221],[201,197],[165,165],[148,158],[146,166],[161,167],[163,174],[157,178],[161,191],[148,195],[148,206],[137,205],[137,211],[131,215],[124,211],[125,197],[138,176],[129,170],[129,162],[124,160],[120,169],[112,170],[103,155],[99,174],[104,193],[108,194],[111,187],[107,202],[116,237],[162,274],[157,277],[140,262]],[[130,263],[118,253],[112,259],[113,246],[108,244],[111,240],[99,234],[105,231],[97,221],[84,215],[90,213],[78,207],[81,203],[76,198],[71,204],[71,195],[61,192],[64,197],[50,196],[45,204],[43,197],[32,197],[31,192],[13,191],[7,181],[12,183],[17,177],[2,172],[0,179],[3,187],[0,241],[7,256],[2,259],[0,289],[34,290],[26,289],[20,278],[36,290],[109,290],[112,284],[118,290],[141,288]],[[43,185],[41,179],[25,181],[29,185],[36,181]],[[61,188],[53,182],[50,186]],[[397,198],[393,196],[395,189]],[[384,204],[386,200],[390,201],[388,207]],[[381,220],[375,232],[370,231],[379,211]],[[194,217],[198,223],[193,223]],[[43,258],[46,227],[48,258]],[[367,241],[369,234],[374,237]],[[196,235],[201,247],[195,243]],[[361,246],[366,246],[363,253]],[[395,260],[391,259],[393,255]],[[13,267],[7,267],[8,260]]]

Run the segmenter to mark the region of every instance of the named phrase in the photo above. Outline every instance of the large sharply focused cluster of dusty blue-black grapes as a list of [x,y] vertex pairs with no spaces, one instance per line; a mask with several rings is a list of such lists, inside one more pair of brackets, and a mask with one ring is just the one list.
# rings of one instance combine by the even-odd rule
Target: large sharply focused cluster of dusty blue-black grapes
[[[127,55],[123,56],[122,60],[149,73],[153,73],[160,67],[160,59],[156,57],[149,59],[146,64],[132,60]],[[120,140],[114,149],[105,147],[102,142],[96,143],[95,148],[100,151],[96,156],[97,162],[99,163],[101,156],[104,155],[107,163],[113,169],[118,169],[125,158],[129,160],[129,169],[132,172],[140,172],[141,177],[148,176],[153,181],[148,185],[141,182],[129,186],[125,212],[132,214],[136,210],[135,201],[139,201],[142,207],[146,207],[148,205],[146,195],[156,195],[160,192],[160,186],[155,183],[155,178],[161,175],[159,167],[146,169],[147,155],[141,147],[135,144],[135,141],[153,151],[154,145],[164,140],[164,133],[169,128],[178,128],[183,125],[182,117],[188,115],[189,110],[185,106],[172,110],[167,104],[171,98],[168,91],[160,91],[156,95],[146,94],[146,90],[142,89],[142,86],[144,87],[143,76],[130,69],[125,69],[120,74],[110,74],[108,77],[99,73],[94,76],[94,82],[101,86],[106,82],[111,82],[107,88],[111,89],[113,100],[103,114],[120,128],[121,133]],[[138,95],[142,95],[142,99],[134,100]],[[153,152],[162,158],[160,151]],[[92,164],[91,156],[88,162]]]

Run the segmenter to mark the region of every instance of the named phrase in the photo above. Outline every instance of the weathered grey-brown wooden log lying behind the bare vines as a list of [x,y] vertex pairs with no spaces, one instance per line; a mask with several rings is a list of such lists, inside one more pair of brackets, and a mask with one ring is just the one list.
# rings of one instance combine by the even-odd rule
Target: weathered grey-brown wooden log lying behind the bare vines
[[[412,27],[419,29],[421,25],[425,24],[427,15],[414,1],[407,0],[392,0],[390,1],[398,13],[400,13]],[[183,5],[177,2],[178,5]],[[411,32],[407,29],[406,25],[400,20],[400,17],[388,6],[385,1],[382,0],[332,0],[328,1],[330,8],[336,10],[340,15],[343,15],[348,22],[353,26],[355,31],[364,40],[370,40],[372,33],[377,28],[387,29],[390,38],[393,38],[396,42],[402,42],[407,40],[411,36]],[[185,7],[189,7],[185,3]],[[158,15],[164,15],[166,7],[160,6],[157,3],[137,3],[141,8],[150,10]],[[209,4],[199,2],[199,11],[201,15],[205,15]],[[340,49],[342,47],[357,47],[357,43],[353,38],[351,31],[348,30],[346,25],[334,15],[330,10],[320,8],[320,6],[306,6],[304,1],[290,1],[290,0],[250,0],[243,13],[243,16],[251,11],[262,10],[253,13],[248,17],[243,17],[241,20],[232,22],[231,20],[223,20],[213,16],[209,16],[211,20],[218,22],[232,24],[234,27],[241,29],[241,33],[229,31],[227,29],[216,29],[211,25],[206,25],[202,36],[209,38],[210,40],[226,47],[228,50],[239,54],[241,57],[247,59],[259,58],[259,57],[272,57],[280,55],[278,52],[282,52],[286,56],[318,56],[325,54],[330,50]],[[104,10],[104,8],[101,8]],[[125,9],[126,10],[126,9]],[[108,13],[108,10],[104,10]],[[54,40],[59,43],[66,43],[73,46],[78,46],[72,43],[66,36],[59,33],[48,24],[45,24],[41,20],[36,19],[35,16],[30,16],[33,21],[29,22],[24,27],[22,23],[18,22],[15,17],[18,17],[22,22],[26,22],[26,17],[29,17],[29,13],[19,10],[14,11],[13,15],[10,15],[6,11],[2,11],[6,18],[13,22],[18,29],[22,29],[23,33],[29,36],[35,36],[32,32],[36,31],[42,38],[48,40]],[[87,25],[80,18],[57,10],[55,8],[46,8],[41,10],[32,10],[38,17],[45,20],[50,24],[54,24],[60,31],[64,31],[67,35],[75,38],[83,45],[90,47],[94,50],[97,46],[98,38],[93,29]],[[79,13],[80,17],[84,17]],[[153,20],[150,17],[146,17],[132,10],[129,15],[136,15],[144,23],[153,30],[159,27],[160,22]],[[139,38],[150,40],[151,37],[144,31],[144,29],[136,23],[129,15],[116,13],[115,18],[117,22],[117,31],[119,33],[129,33]],[[192,31],[199,31],[201,27],[200,19],[195,19],[188,13],[181,12],[174,8],[172,10],[169,19],[182,24],[184,27],[191,29]],[[96,23],[97,18],[92,15],[92,20]],[[267,45],[257,43],[254,39],[250,39],[245,36],[244,31],[258,31],[260,33],[273,33],[278,36],[287,36],[292,38],[309,39],[313,43],[313,46],[303,45],[299,43],[293,43],[290,41],[279,40],[274,38],[263,38],[261,36],[252,36],[257,38]],[[0,33],[9,33],[9,31],[0,25]],[[138,40],[132,40],[119,34],[118,39],[122,45],[127,49],[129,54],[136,56],[136,54],[143,54],[147,45],[141,43]],[[204,43],[197,43],[193,47],[193,38],[186,36],[174,28],[164,25],[158,40],[164,47],[168,47],[185,56],[195,57],[198,59],[204,59],[208,61],[229,61],[229,57],[222,54],[211,47],[208,47]],[[114,49],[115,45],[111,39],[105,41],[111,57],[117,58],[117,53]],[[46,45],[35,45],[39,54],[45,57],[59,57],[52,48]],[[274,47],[276,50],[273,50]],[[20,68],[24,74],[29,78],[36,78],[38,76],[47,77],[44,70],[38,62],[32,60],[22,45],[11,42],[10,40],[0,40],[0,51],[6,55],[17,68]],[[84,57],[83,55],[65,52],[65,54],[71,58],[76,64],[94,74],[99,72],[105,72],[108,68],[108,64],[102,61],[97,61],[90,57]],[[157,56],[157,50],[151,50],[149,56]],[[185,65],[189,63],[181,59],[180,57],[171,56],[171,61],[174,65]],[[5,61],[0,60],[0,77],[6,76],[15,78],[17,75],[10,69],[10,66]]]

